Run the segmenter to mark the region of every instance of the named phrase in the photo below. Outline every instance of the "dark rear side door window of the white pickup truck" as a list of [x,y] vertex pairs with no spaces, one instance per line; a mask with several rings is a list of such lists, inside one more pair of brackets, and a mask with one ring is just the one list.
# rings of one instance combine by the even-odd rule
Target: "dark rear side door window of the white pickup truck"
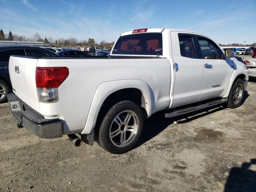
[[180,35],[180,55],[182,57],[196,58],[196,48],[192,35]]

